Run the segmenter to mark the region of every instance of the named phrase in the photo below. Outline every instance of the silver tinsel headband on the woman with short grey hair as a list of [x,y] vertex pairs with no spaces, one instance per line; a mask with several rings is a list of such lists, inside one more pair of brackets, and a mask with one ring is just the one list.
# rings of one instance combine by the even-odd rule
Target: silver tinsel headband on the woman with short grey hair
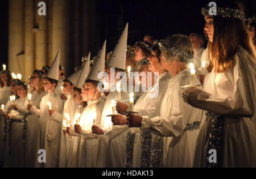
[[181,61],[190,62],[191,59],[193,58],[192,54],[188,54],[188,53],[184,52],[183,50],[176,48],[175,46],[169,46],[169,47],[164,46],[164,44],[159,41],[156,41],[155,44],[157,44],[159,46],[159,49],[161,51],[165,50],[172,56],[177,56]]

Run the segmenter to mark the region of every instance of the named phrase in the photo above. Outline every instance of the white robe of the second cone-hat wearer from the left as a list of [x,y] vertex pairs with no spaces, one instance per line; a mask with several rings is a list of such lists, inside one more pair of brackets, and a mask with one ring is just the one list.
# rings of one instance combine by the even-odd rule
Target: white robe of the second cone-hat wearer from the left
[[[73,120],[75,118],[77,104],[73,99],[73,95],[68,95],[68,99],[64,103],[63,108],[63,121],[67,121],[67,125],[73,126]],[[70,121],[68,123],[68,119],[65,117],[65,113],[67,113],[70,117]],[[59,167],[61,168],[72,168],[76,167],[76,165],[72,165],[70,161],[72,160],[72,155],[70,155],[70,151],[72,150],[73,137],[69,135],[63,135],[63,131],[61,130],[61,139],[60,139],[60,161]],[[74,163],[76,164],[76,163]]]

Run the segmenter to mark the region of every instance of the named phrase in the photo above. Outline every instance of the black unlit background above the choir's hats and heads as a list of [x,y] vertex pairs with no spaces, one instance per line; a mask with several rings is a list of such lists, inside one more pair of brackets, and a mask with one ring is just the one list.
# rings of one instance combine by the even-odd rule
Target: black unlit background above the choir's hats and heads
[[[42,0],[43,1],[43,0]],[[54,1],[54,0],[53,0]],[[99,49],[107,39],[107,52],[113,50],[126,22],[129,22],[128,44],[143,40],[146,33],[156,39],[162,39],[175,33],[189,35],[191,32],[203,33],[204,18],[201,7],[206,0],[93,0],[97,1],[96,19],[97,44]],[[246,7],[248,16],[255,16],[256,1],[240,1]],[[8,61],[8,1],[1,1],[0,6],[0,59]],[[94,50],[93,55],[97,53]]]

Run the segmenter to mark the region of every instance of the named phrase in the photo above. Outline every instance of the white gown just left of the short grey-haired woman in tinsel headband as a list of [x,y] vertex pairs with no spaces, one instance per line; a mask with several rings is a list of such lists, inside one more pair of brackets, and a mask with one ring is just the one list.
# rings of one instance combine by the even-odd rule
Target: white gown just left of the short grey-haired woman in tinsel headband
[[[160,108],[163,97],[167,90],[167,85],[169,80],[171,79],[171,74],[169,72],[163,73],[158,77],[158,83],[148,89],[143,93],[141,97],[139,97],[137,103],[134,105],[134,111],[141,113],[142,116],[148,116],[149,118],[153,118],[156,116],[160,116]],[[158,91],[158,96],[153,95],[154,92]],[[134,138],[134,151],[133,151],[133,167],[139,168],[141,167],[141,130],[138,127],[131,128],[131,133],[135,133]],[[154,139],[156,136],[151,134],[152,136],[152,144],[154,144]],[[150,149],[154,150],[155,146],[152,146]],[[150,163],[150,160],[147,161]],[[160,166],[159,166],[160,167]]]

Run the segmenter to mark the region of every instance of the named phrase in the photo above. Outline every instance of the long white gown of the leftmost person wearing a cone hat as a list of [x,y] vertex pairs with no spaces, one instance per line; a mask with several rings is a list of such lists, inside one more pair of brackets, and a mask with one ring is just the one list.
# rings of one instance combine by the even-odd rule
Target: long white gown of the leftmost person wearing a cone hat
[[[49,116],[47,102],[52,104],[52,109],[55,111],[52,117]],[[63,101],[57,95],[56,91],[53,91],[47,93],[47,95],[42,98],[40,110],[33,106],[30,112],[40,116],[37,150],[43,149],[46,151],[46,163],[38,163],[36,158],[36,167],[56,168],[59,166]]]

